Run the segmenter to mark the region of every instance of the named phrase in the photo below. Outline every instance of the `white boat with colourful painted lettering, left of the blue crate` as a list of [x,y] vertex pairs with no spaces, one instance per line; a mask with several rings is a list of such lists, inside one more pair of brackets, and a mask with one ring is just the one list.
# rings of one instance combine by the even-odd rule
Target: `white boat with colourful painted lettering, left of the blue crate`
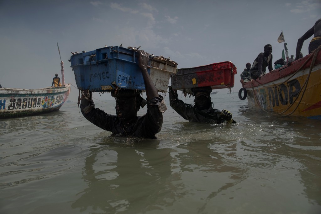
[[70,93],[70,84],[41,89],[0,88],[0,119],[58,111]]

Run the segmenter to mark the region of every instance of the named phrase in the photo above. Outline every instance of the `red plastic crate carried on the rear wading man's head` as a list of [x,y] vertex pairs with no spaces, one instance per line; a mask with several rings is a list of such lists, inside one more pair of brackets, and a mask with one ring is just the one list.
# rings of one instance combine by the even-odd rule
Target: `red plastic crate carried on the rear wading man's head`
[[226,61],[206,66],[181,68],[172,74],[170,81],[173,89],[186,89],[210,86],[212,89],[231,88],[237,73],[233,63]]

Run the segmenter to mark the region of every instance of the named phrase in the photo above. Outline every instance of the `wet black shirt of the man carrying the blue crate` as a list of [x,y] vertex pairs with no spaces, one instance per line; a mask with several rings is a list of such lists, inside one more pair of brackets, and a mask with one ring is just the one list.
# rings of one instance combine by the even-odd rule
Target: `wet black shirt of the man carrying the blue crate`
[[87,120],[101,129],[112,132],[112,135],[157,139],[155,134],[160,132],[162,127],[162,112],[166,111],[166,105],[161,96],[150,99],[147,101],[146,114],[137,116],[136,120],[132,124],[127,125],[126,128],[116,115],[110,115],[95,108],[92,100],[90,101],[90,106],[80,105],[80,109]]

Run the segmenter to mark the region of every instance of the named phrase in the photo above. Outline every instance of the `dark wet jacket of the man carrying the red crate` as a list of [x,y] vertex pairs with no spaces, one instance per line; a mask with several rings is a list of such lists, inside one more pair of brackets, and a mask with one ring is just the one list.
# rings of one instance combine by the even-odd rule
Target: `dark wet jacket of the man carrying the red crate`
[[186,104],[182,100],[179,100],[177,92],[174,92],[173,90],[169,90],[169,104],[180,116],[190,122],[225,122],[225,120],[221,118],[220,110],[213,109],[212,106],[205,110],[197,110],[195,106]]

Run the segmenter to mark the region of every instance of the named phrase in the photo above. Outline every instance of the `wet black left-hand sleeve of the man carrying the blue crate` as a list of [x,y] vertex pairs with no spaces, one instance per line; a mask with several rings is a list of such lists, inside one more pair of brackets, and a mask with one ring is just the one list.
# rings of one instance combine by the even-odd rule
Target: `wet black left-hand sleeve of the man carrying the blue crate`
[[107,114],[106,112],[95,108],[94,102],[89,101],[89,105],[80,105],[82,115],[90,121],[92,124],[98,126],[101,129],[112,131],[112,124],[115,120],[115,115]]

